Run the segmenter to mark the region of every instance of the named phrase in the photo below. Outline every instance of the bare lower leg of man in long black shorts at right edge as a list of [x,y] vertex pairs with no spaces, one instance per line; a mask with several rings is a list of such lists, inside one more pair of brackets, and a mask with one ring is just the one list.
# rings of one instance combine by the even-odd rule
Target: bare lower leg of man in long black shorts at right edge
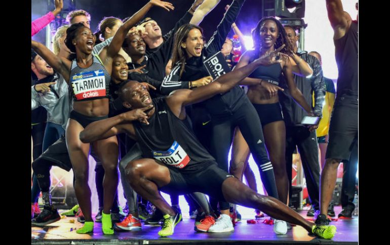
[[328,158],[321,173],[320,211],[328,215],[329,203],[332,200],[333,190],[336,185],[337,168],[340,159]]

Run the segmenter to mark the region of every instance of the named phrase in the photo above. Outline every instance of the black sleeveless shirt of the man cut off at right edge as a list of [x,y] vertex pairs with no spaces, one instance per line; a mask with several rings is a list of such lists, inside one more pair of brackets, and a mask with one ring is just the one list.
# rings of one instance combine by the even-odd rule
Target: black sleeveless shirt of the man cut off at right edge
[[334,40],[334,45],[338,67],[336,97],[358,95],[358,22],[352,21],[348,32]]

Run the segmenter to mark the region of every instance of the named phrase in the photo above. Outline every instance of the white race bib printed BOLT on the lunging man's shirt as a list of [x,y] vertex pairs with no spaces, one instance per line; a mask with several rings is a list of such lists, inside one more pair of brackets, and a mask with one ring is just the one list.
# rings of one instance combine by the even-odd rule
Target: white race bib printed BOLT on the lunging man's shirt
[[165,152],[151,151],[153,158],[176,168],[184,168],[190,159],[187,153],[176,141]]

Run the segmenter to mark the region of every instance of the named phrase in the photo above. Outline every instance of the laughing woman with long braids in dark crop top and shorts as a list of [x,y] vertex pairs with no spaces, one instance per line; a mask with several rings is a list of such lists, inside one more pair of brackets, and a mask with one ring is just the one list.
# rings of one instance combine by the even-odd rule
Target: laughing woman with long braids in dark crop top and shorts
[[[273,17],[261,19],[257,27],[252,31],[252,36],[255,43],[254,51],[245,52],[235,69],[243,67],[254,59],[276,50],[283,44],[285,44],[285,47],[281,52],[290,55],[290,57],[284,58],[280,64],[259,67],[240,83],[240,85],[248,85],[247,95],[260,117],[265,145],[269,159],[274,167],[279,199],[287,204],[289,187],[285,160],[286,128],[279,105],[278,90],[282,90],[278,86],[279,76],[283,74],[286,77],[287,85],[292,91],[295,101],[310,114],[311,108],[296,87],[292,72],[303,73],[303,75],[307,76],[313,73],[313,71],[302,59],[293,54],[292,45],[287,39],[286,31],[277,19]],[[298,63],[300,64],[299,66],[297,65]],[[280,68],[277,67],[279,65],[281,66]],[[232,168],[238,171],[245,169],[250,152],[248,144],[238,128],[236,128],[231,152],[230,164],[233,166]],[[244,166],[241,167],[239,165]],[[242,176],[241,173],[233,174]]]

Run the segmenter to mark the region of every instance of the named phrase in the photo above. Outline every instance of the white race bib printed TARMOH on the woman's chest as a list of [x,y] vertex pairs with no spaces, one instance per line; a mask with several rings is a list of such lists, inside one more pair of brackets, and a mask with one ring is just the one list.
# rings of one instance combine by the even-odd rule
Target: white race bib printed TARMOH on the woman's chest
[[102,70],[77,73],[70,82],[77,101],[106,96],[106,78]]

